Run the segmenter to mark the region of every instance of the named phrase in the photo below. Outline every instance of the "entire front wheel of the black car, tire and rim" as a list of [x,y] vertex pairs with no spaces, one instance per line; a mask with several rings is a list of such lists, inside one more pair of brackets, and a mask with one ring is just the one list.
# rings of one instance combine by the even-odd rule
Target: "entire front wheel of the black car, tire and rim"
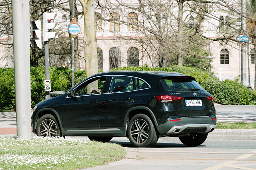
[[60,128],[55,117],[51,114],[43,115],[37,122],[36,134],[44,137],[60,136]]

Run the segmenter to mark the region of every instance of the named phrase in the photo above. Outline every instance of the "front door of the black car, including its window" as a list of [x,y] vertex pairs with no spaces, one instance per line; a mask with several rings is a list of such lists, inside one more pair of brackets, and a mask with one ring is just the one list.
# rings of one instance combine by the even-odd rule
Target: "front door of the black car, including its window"
[[[63,103],[63,125],[67,134],[100,134],[99,105],[107,76],[90,79],[74,89],[74,95]],[[98,89],[88,91],[92,84]]]

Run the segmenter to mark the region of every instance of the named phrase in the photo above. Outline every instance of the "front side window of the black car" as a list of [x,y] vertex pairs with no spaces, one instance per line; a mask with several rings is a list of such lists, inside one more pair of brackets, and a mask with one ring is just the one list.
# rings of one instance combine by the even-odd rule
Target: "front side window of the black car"
[[[76,88],[75,95],[102,94],[105,88],[107,77],[99,77],[84,82]],[[98,86],[98,88],[95,86]]]

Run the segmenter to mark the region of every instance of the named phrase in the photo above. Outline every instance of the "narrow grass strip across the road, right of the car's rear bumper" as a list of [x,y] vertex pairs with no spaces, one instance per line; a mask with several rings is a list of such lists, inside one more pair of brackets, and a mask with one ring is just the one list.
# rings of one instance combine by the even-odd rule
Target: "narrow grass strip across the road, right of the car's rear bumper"
[[256,129],[256,123],[247,123],[247,122],[218,122],[216,124],[216,129]]

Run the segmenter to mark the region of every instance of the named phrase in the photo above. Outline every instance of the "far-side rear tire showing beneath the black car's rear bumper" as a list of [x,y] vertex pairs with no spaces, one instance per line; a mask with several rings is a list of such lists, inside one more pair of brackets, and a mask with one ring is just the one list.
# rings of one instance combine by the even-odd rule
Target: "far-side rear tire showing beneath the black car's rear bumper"
[[207,138],[208,133],[195,133],[190,136],[179,137],[181,142],[187,146],[198,146]]

